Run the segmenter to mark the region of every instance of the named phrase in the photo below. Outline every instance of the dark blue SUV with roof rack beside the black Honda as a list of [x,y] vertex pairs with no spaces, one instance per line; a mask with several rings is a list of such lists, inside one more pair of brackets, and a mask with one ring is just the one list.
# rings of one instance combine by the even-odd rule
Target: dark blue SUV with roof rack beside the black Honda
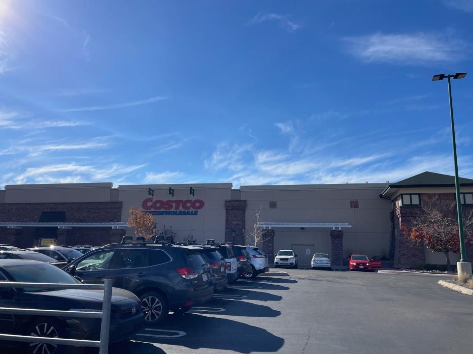
[[210,269],[200,250],[161,241],[124,240],[82,255],[66,270],[88,284],[113,279],[113,286],[140,298],[145,321],[157,324],[169,310],[184,313],[212,298]]

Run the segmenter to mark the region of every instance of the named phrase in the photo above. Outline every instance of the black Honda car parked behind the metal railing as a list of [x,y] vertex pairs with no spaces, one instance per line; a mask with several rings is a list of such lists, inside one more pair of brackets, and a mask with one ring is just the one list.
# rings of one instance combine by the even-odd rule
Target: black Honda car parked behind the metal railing
[[[26,283],[80,284],[64,270],[47,263],[25,260],[0,260],[0,281]],[[0,307],[47,310],[101,310],[103,292],[97,290],[52,290],[44,287],[0,288]],[[127,340],[143,328],[139,299],[114,288],[110,316],[110,343]],[[2,315],[0,333],[70,339],[100,339],[100,319],[42,315]],[[26,343],[30,354],[59,354],[61,346]]]

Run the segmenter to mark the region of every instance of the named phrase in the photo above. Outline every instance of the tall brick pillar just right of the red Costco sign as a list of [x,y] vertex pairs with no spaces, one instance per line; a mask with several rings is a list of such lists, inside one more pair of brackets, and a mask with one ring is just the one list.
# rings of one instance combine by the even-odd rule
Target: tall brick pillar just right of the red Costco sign
[[[225,242],[244,245],[246,201],[225,201]],[[218,240],[216,240],[218,241]]]

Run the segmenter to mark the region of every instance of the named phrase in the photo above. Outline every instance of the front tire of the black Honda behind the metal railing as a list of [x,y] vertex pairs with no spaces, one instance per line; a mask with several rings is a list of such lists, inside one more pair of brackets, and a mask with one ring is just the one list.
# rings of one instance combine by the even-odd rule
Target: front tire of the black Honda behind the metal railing
[[[38,336],[38,337],[51,337],[51,338],[65,338],[64,337],[64,324],[61,324],[59,321],[44,317],[39,318],[36,321],[28,325],[26,335],[28,336]],[[28,354],[40,354],[40,353],[49,353],[49,354],[61,354],[64,353],[64,346],[59,346],[57,344],[47,344],[47,343],[25,343],[26,353]]]

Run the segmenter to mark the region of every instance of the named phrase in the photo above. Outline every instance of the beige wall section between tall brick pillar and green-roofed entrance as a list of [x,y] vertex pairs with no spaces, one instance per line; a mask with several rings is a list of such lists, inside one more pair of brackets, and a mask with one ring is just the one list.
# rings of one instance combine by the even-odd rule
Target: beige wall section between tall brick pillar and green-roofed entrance
[[[388,256],[391,232],[391,202],[379,195],[384,183],[327,184],[296,186],[241,186],[241,199],[247,201],[246,230],[262,207],[263,222],[347,222],[343,229],[343,251],[368,256]],[[351,208],[357,200],[359,207]],[[270,209],[270,201],[277,208]],[[313,245],[311,252],[331,254],[330,229],[274,228],[274,251],[292,245]],[[248,240],[249,241],[249,240]],[[303,247],[304,248],[304,247]],[[312,249],[313,248],[313,249]]]

